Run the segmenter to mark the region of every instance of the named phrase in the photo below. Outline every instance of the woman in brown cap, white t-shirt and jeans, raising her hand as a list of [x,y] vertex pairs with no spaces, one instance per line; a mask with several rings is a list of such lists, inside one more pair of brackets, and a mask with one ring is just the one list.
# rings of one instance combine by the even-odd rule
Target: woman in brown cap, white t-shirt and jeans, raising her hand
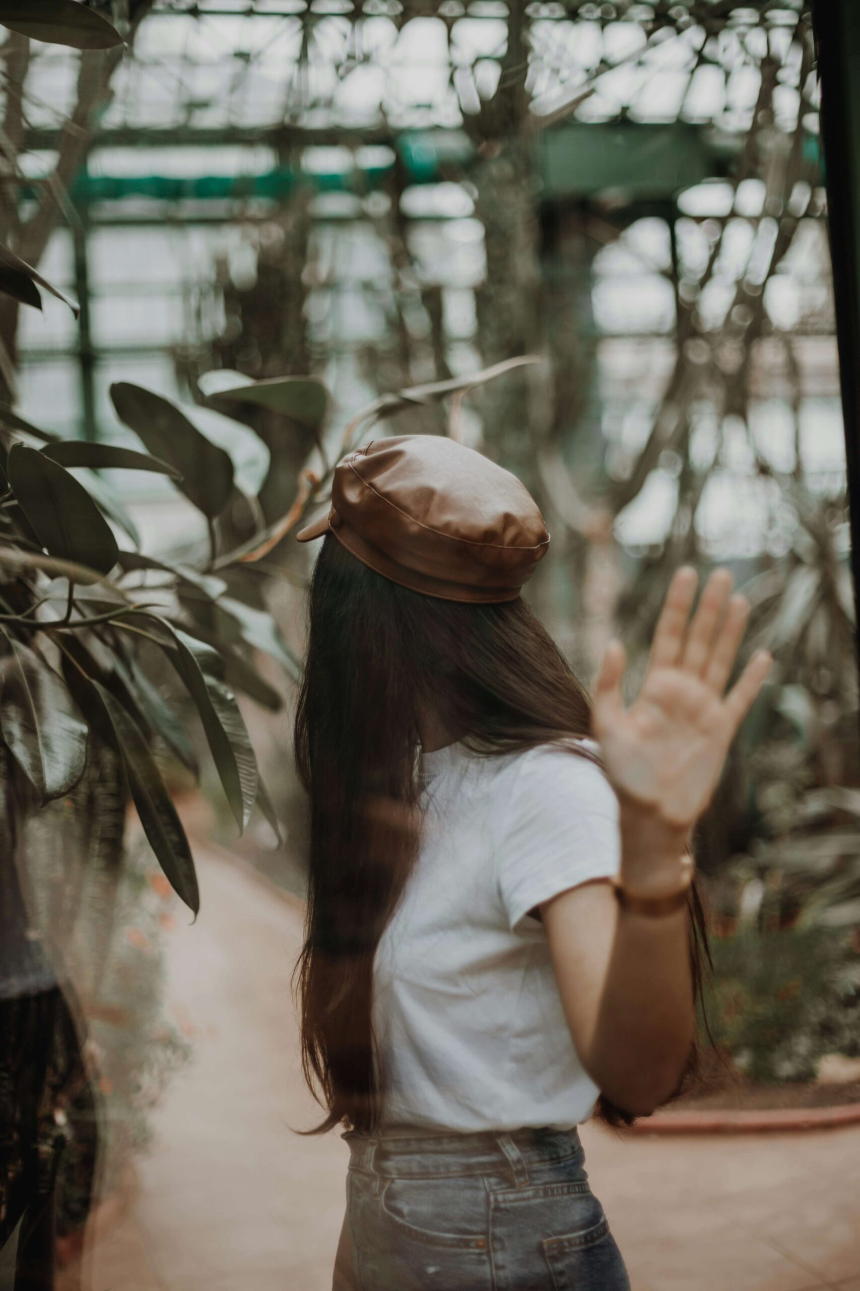
[[[703,919],[687,840],[770,660],[748,604],[669,587],[650,667],[593,709],[520,596],[526,489],[435,436],[337,467],[297,714],[311,799],[304,1069],[351,1148],[335,1285],[629,1286],[576,1126],[677,1090]],[[589,738],[593,736],[594,738]],[[355,1281],[352,1281],[355,1279]]]

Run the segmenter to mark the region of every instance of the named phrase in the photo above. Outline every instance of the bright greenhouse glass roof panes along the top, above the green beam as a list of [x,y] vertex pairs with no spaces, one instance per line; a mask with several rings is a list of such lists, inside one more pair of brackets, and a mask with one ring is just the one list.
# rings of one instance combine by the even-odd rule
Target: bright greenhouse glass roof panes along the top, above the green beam
[[[535,124],[685,120],[749,127],[762,59],[779,65],[780,124],[799,108],[798,0],[699,3],[661,26],[646,4],[530,4],[527,80]],[[683,13],[685,6],[676,10]],[[511,76],[507,5],[496,0],[156,0],[117,68],[106,134],[291,130],[389,136],[456,128]],[[43,46],[27,117],[50,132],[71,110],[75,54]]]

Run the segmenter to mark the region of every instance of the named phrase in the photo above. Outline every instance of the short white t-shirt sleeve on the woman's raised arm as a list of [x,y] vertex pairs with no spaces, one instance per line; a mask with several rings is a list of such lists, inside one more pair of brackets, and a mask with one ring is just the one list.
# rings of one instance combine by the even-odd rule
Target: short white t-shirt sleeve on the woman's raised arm
[[575,753],[534,749],[512,767],[496,822],[496,878],[513,930],[542,901],[619,873],[619,802],[603,771]]

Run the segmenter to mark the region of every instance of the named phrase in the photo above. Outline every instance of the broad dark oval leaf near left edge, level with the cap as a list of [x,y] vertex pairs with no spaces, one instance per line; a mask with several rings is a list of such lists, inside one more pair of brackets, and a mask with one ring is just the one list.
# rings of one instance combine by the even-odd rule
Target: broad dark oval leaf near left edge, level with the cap
[[8,474],[21,510],[49,555],[99,574],[113,568],[119,547],[111,527],[68,471],[37,449],[15,444]]

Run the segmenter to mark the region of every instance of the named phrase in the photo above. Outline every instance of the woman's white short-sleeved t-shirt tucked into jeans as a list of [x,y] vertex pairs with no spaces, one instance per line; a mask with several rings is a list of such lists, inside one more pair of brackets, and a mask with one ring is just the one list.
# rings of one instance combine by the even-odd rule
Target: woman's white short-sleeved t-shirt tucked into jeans
[[455,744],[420,775],[422,848],[374,966],[383,1124],[579,1124],[600,1091],[529,910],[618,874],[618,798],[596,763],[551,745],[480,758]]

